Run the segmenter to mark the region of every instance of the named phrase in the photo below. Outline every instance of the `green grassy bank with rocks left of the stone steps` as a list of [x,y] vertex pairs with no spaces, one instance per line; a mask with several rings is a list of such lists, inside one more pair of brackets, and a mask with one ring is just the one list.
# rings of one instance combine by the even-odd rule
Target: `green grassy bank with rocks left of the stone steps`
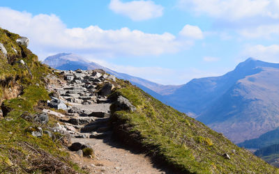
[[49,98],[43,79],[51,71],[27,47],[18,45],[17,38],[20,35],[0,28],[0,42],[8,52],[7,56],[0,52],[0,104],[5,115],[0,118],[0,173],[76,173],[73,168],[78,168],[68,161],[61,141],[47,134],[36,138],[28,131],[30,126],[45,130],[54,118],[49,125],[38,125],[20,117],[36,113],[38,102]]

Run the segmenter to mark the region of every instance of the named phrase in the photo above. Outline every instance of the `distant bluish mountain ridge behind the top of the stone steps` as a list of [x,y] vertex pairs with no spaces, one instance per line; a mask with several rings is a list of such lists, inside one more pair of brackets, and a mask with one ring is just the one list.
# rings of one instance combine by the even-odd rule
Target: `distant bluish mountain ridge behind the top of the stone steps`
[[124,79],[130,81],[132,84],[135,84],[142,88],[147,93],[151,94],[153,97],[160,99],[161,95],[167,95],[173,93],[174,90],[179,88],[180,86],[172,86],[172,85],[161,85],[156,84],[152,81],[148,81],[146,79],[142,79],[140,77],[134,77],[129,74],[124,74],[121,72],[116,72],[114,70],[110,70],[109,68],[105,68],[98,63],[93,63],[91,61],[82,58],[82,56],[78,56],[76,54],[68,54],[68,53],[60,53],[55,54],[53,56],[48,56],[45,58],[43,63],[50,65],[52,68],[56,68],[58,70],[94,70],[94,69],[102,69],[107,73],[113,74],[115,77],[119,79]]

